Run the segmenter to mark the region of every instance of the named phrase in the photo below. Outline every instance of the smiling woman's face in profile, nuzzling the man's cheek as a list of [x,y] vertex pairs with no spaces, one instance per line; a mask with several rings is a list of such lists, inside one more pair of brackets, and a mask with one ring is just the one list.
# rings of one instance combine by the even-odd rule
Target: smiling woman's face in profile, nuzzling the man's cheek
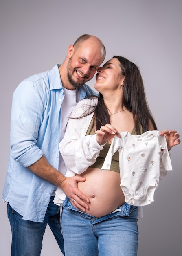
[[99,67],[96,74],[94,88],[103,94],[106,90],[121,90],[124,76],[121,75],[120,62],[117,58],[107,61],[103,67]]

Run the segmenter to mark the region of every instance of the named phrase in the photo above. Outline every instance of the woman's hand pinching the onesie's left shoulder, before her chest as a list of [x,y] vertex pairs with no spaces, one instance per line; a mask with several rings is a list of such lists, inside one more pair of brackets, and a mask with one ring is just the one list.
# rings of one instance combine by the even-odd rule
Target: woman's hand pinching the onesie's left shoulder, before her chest
[[102,145],[108,140],[113,139],[115,135],[117,135],[119,138],[121,137],[116,128],[110,124],[106,124],[105,126],[101,126],[100,130],[96,131],[96,141]]

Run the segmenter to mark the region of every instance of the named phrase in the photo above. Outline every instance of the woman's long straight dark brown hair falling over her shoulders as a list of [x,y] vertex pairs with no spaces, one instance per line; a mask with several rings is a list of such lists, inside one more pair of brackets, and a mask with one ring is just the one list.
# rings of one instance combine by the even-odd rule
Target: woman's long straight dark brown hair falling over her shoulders
[[[151,125],[154,130],[157,130],[156,123],[147,103],[143,79],[138,67],[124,57],[114,56],[113,58],[118,59],[121,74],[125,76],[123,83],[123,104],[133,114],[136,134],[139,135],[141,133],[140,125],[142,126],[142,132],[151,130]],[[151,121],[150,126],[149,121]],[[99,93],[98,105],[95,108],[94,122],[96,130],[99,130],[102,125],[110,123],[110,116],[101,93]]]

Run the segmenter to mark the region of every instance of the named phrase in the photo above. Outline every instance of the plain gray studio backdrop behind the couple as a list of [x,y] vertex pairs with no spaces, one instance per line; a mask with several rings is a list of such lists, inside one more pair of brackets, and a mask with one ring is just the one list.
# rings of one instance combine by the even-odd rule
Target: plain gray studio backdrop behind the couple
[[[158,130],[182,136],[181,0],[1,0],[0,1],[0,194],[9,155],[12,94],[26,77],[50,70],[66,57],[81,34],[101,38],[106,60],[134,61],[143,75]],[[88,83],[92,88],[94,79]],[[179,256],[182,252],[182,146],[171,150],[173,171],[161,181],[155,201],[138,220],[138,256]],[[0,255],[11,255],[7,205],[0,203]],[[61,255],[49,227],[42,256]],[[88,255],[89,256],[89,255]]]

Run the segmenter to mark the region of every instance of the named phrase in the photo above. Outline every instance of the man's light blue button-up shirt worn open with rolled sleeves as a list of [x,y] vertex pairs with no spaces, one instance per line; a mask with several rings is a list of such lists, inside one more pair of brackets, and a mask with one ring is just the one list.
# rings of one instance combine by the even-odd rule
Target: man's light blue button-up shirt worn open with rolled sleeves
[[[88,85],[79,97],[96,94]],[[43,222],[54,184],[26,167],[42,155],[58,170],[61,103],[64,92],[58,65],[22,81],[13,93],[10,155],[2,200],[24,220]]]

